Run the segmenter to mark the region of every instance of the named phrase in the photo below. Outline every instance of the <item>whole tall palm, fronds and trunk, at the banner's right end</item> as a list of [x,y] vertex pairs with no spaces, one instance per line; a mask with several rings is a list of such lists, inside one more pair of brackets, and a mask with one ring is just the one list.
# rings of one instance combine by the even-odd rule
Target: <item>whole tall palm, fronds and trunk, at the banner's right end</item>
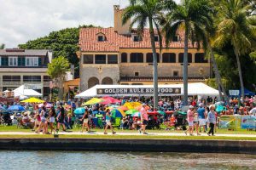
[[166,44],[172,41],[178,30],[184,29],[183,55],[183,104],[188,105],[188,49],[189,40],[197,48],[201,47],[201,40],[205,39],[203,26],[211,20],[211,10],[208,0],[182,0],[174,11],[167,14],[164,26]]

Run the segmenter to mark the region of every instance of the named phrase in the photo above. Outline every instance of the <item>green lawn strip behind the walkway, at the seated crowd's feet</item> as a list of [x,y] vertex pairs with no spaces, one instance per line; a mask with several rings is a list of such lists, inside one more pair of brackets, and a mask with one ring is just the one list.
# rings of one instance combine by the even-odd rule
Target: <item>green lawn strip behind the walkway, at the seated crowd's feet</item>
[[[81,130],[81,127],[79,128],[73,128],[71,131],[73,132],[79,132]],[[93,129],[97,132],[103,132],[103,129]],[[120,130],[120,129],[115,129],[116,132],[118,133],[137,133],[136,130]],[[31,129],[25,129],[25,128],[17,128],[17,126],[2,126],[0,125],[0,132],[32,132]],[[148,133],[183,133],[182,130],[147,130]],[[247,129],[237,129],[235,131],[230,131],[228,129],[217,129],[217,133],[224,133],[224,134],[255,134],[256,131],[247,131]]]

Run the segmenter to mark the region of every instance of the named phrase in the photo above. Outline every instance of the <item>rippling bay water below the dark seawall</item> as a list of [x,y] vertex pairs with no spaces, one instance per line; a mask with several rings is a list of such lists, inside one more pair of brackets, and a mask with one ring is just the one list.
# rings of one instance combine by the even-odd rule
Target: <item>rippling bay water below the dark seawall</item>
[[0,169],[256,169],[256,155],[1,150]]

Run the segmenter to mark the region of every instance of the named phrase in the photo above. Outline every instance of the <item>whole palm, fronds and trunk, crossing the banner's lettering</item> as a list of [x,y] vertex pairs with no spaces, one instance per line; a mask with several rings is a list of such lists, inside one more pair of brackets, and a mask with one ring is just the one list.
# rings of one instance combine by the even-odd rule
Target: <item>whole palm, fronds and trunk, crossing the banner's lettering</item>
[[[164,5],[165,3],[165,5]],[[154,27],[158,32],[161,44],[161,34],[159,25],[159,16],[165,7],[173,7],[175,3],[172,0],[130,0],[130,6],[125,8],[122,16],[122,22],[125,24],[127,20],[131,21],[131,26],[137,24],[137,33],[142,35],[145,26],[149,25],[150,41],[153,53],[153,66],[154,66],[154,108],[158,106],[158,71],[157,71],[157,55],[154,41]],[[161,46],[161,45],[160,45]]]

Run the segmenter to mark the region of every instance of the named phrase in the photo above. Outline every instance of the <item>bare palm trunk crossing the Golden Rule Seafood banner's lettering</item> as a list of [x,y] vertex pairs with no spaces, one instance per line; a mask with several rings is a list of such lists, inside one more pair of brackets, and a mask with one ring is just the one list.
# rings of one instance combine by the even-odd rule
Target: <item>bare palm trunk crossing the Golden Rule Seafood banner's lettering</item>
[[154,42],[154,28],[152,19],[148,18],[149,22],[149,31],[150,31],[150,39],[151,39],[151,47],[153,53],[153,65],[154,65],[154,73],[153,73],[153,82],[154,82],[154,109],[158,107],[158,73],[157,73],[157,55],[155,49]]

